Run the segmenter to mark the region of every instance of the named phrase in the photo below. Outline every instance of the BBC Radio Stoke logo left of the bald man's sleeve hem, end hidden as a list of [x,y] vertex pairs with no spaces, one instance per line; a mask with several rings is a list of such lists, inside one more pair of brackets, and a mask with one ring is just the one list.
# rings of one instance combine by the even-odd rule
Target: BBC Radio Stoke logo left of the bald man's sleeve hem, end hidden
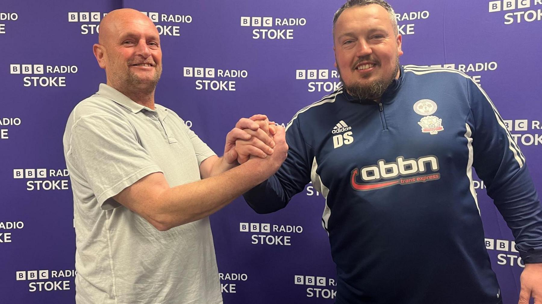
[[[14,179],[31,179],[27,181],[27,190],[68,190],[68,181],[66,179],[57,179],[58,177],[69,176],[68,169],[13,169]],[[53,180],[43,180],[55,177]],[[40,179],[40,180],[35,180]]]

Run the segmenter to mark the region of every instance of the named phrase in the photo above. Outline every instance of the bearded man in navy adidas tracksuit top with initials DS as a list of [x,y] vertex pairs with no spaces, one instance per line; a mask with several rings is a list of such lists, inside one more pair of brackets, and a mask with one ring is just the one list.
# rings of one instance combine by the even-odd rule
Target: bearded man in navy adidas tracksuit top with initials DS
[[347,1],[333,38],[344,86],[295,114],[286,161],[244,194],[249,205],[274,212],[312,181],[326,200],[336,303],[502,303],[475,167],[526,263],[520,303],[542,301],[542,208],[486,93],[459,71],[399,66],[402,37],[383,0]]

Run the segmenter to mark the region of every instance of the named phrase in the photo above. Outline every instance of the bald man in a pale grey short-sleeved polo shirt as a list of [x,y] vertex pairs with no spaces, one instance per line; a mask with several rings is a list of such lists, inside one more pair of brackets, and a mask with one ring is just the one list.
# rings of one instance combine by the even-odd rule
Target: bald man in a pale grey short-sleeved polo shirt
[[[175,112],[154,103],[162,50],[141,12],[105,16],[93,50],[107,84],[76,105],[63,138],[76,302],[222,303],[208,216],[280,167],[284,130],[271,128],[271,138],[268,121],[254,122],[265,116],[242,118],[217,157]],[[236,140],[259,157],[239,165]]]

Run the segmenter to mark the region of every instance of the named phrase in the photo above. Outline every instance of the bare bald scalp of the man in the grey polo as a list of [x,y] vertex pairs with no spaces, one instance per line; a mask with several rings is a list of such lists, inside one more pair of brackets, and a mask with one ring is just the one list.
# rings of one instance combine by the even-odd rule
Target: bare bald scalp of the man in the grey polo
[[[109,12],[102,18],[100,22],[100,32],[98,34],[98,43],[101,45],[110,43],[112,38],[119,34],[120,30],[129,27],[131,23],[149,24],[156,30],[151,19],[140,11],[134,9],[118,9]],[[156,35],[158,36],[158,30],[156,30]]]

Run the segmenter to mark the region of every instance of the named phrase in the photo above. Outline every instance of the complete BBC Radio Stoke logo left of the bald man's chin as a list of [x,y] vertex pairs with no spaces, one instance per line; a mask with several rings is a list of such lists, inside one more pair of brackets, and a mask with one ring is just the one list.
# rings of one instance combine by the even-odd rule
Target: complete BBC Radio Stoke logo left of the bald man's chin
[[43,75],[24,76],[24,87],[66,87],[66,76],[44,76],[65,75],[78,72],[77,65],[44,65],[44,64],[10,64],[9,74],[21,75]]

